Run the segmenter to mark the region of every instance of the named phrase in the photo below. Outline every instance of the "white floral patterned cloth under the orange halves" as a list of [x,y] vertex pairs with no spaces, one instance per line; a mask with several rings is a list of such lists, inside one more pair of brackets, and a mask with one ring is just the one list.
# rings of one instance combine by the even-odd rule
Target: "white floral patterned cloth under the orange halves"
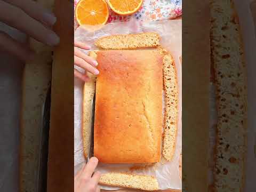
[[[75,0],[75,7],[79,0]],[[182,15],[182,0],[144,0],[141,8],[129,16],[121,16],[110,10],[108,22],[129,21],[157,21],[174,19]]]

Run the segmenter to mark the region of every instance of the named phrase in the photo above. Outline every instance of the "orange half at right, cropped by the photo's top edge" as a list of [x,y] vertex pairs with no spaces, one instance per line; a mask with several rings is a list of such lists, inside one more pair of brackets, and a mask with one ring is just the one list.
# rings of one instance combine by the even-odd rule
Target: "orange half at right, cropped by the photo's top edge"
[[108,0],[111,10],[117,14],[129,15],[138,11],[143,0]]

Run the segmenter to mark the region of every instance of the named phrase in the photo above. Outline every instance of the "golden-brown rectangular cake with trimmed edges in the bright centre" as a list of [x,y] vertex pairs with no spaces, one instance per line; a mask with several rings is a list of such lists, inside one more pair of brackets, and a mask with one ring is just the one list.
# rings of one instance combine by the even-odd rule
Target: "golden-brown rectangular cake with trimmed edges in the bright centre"
[[161,158],[163,58],[157,51],[99,51],[94,156],[102,163]]

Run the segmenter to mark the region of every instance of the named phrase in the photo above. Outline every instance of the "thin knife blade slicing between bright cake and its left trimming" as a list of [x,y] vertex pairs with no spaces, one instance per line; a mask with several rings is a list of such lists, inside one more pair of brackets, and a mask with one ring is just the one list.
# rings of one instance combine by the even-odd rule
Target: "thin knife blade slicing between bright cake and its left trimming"
[[94,142],[94,111],[95,111],[95,93],[93,95],[92,99],[92,111],[91,111],[91,126],[89,129],[89,146],[88,146],[88,151],[87,151],[87,159],[86,163],[89,161],[91,157],[93,157],[93,142]]

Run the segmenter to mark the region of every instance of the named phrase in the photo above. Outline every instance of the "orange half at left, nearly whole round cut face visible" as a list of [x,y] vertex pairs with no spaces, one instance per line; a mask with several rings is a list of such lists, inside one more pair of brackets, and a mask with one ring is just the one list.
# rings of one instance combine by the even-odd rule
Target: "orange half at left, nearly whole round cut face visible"
[[105,0],[80,0],[75,14],[79,25],[104,25],[108,21],[108,4]]

